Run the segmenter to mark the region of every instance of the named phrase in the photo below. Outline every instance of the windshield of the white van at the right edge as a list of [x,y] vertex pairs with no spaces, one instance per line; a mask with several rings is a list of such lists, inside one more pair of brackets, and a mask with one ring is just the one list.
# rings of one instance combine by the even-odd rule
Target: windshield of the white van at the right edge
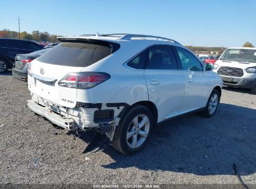
[[220,60],[256,63],[256,50],[229,48],[225,51]]

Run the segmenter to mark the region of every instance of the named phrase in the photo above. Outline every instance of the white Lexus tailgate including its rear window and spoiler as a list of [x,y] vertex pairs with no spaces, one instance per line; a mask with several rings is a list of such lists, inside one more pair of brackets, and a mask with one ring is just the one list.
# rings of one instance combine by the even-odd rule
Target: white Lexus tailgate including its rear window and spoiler
[[79,75],[80,70],[97,63],[118,48],[118,44],[103,40],[64,39],[31,62],[29,90],[52,103],[74,108],[77,103],[77,86],[63,83],[60,86],[59,81],[69,78],[72,82],[73,75]]

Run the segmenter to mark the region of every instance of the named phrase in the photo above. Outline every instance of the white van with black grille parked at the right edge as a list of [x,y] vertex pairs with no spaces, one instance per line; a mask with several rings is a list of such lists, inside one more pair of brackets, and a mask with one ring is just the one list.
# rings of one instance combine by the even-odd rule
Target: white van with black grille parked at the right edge
[[224,85],[250,88],[256,93],[256,48],[227,48],[214,66]]

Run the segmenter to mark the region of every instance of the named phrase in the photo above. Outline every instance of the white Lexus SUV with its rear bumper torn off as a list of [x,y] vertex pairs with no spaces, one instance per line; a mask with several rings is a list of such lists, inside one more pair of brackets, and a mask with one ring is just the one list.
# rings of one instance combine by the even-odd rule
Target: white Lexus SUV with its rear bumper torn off
[[159,122],[216,113],[222,80],[174,40],[135,34],[59,40],[29,64],[27,107],[60,127],[95,129],[130,155],[145,147]]

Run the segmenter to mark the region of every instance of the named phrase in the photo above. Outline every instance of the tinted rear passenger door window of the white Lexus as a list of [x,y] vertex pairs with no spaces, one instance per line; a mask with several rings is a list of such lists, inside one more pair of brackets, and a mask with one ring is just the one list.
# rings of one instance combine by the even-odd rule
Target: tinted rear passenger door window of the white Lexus
[[154,45],[148,50],[147,69],[178,70],[178,65],[169,45]]

